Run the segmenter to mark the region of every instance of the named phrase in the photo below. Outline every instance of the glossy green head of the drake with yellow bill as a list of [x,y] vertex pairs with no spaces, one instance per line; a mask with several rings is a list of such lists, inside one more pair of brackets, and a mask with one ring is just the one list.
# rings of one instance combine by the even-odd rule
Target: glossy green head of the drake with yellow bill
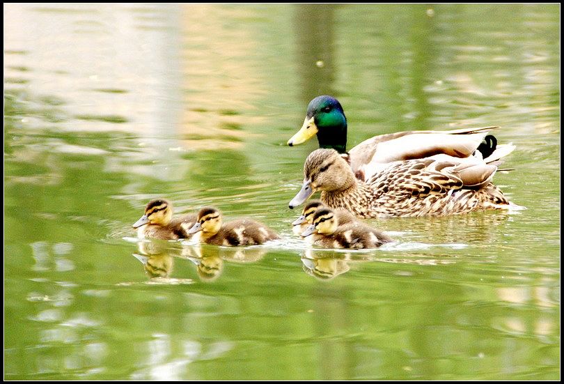
[[304,120],[304,125],[290,140],[289,146],[307,141],[318,135],[320,148],[333,148],[338,153],[345,153],[347,148],[347,118],[343,107],[336,98],[318,96],[311,100]]

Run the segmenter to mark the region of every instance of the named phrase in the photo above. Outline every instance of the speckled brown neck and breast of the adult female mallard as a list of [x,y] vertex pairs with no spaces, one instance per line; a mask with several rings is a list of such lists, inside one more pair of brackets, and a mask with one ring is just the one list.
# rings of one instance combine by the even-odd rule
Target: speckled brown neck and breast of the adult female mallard
[[344,190],[323,191],[321,201],[331,208],[344,208],[357,217],[370,217],[373,206],[373,190],[366,183],[354,180]]

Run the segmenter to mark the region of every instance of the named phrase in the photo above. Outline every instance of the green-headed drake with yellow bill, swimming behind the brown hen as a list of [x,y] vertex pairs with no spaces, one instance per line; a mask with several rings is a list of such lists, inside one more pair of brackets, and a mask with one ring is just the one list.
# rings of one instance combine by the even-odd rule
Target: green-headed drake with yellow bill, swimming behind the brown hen
[[463,128],[448,131],[406,131],[378,135],[367,139],[346,153],[347,118],[343,107],[331,96],[318,96],[308,105],[304,125],[290,140],[289,146],[301,144],[318,136],[320,148],[333,148],[343,153],[355,176],[367,181],[390,162],[434,157],[442,161],[461,162],[483,159],[493,162],[511,153],[512,144],[497,145],[497,139],[487,135],[498,127]]

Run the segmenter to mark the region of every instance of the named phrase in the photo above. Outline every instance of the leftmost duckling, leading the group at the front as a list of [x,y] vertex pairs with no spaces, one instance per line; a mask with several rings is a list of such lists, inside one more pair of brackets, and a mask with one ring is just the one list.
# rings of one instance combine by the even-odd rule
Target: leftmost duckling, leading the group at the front
[[137,237],[162,240],[190,238],[188,230],[196,222],[196,215],[182,215],[175,219],[172,215],[173,206],[170,201],[165,199],[149,201],[143,216],[133,224],[133,228],[137,229]]

